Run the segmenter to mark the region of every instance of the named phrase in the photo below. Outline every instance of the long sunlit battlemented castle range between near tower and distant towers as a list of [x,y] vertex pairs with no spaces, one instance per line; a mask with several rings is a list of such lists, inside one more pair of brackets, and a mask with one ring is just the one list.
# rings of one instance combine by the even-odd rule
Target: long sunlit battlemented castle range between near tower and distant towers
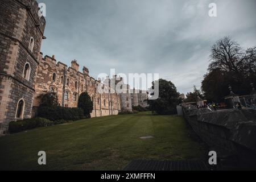
[[[55,74],[53,78],[53,74]],[[34,113],[39,106],[40,94],[51,92],[57,95],[59,105],[64,107],[77,107],[77,102],[82,92],[88,92],[93,101],[92,117],[118,114],[120,106],[119,96],[115,93],[99,93],[97,90],[101,82],[90,77],[89,71],[84,67],[83,73],[79,71],[79,64],[75,60],[72,66],[57,62],[55,57],[40,55],[40,63],[36,73]],[[64,93],[68,97],[64,97]],[[36,114],[35,114],[36,115]]]

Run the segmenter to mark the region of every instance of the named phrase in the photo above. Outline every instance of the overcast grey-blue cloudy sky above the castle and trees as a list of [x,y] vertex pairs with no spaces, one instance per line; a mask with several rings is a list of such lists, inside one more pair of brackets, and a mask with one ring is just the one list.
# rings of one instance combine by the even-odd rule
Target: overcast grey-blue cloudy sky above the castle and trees
[[[99,73],[159,73],[180,93],[200,88],[210,46],[231,36],[256,46],[256,0],[38,0],[46,3],[44,55]],[[216,3],[217,17],[208,15]]]

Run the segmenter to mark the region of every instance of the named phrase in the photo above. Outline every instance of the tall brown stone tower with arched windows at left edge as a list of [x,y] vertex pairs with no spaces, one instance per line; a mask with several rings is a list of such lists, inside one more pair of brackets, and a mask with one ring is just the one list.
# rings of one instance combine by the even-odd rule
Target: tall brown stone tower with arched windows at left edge
[[0,1],[0,134],[30,118],[46,20],[35,0]]

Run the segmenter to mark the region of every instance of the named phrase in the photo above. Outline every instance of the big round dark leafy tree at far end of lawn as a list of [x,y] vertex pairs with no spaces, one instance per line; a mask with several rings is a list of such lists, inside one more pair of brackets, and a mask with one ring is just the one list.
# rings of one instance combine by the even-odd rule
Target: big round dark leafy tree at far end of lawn
[[[159,79],[159,97],[156,100],[148,100],[150,110],[156,114],[176,114],[176,106],[180,104],[179,93],[171,81]],[[154,88],[155,83],[152,82]],[[151,93],[154,94],[154,93]]]

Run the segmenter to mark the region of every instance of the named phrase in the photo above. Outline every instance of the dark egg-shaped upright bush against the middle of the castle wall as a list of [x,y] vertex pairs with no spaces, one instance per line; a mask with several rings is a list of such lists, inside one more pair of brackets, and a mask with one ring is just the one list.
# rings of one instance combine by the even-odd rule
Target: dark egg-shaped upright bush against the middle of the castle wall
[[77,106],[84,110],[85,117],[90,118],[90,113],[93,110],[93,101],[87,92],[81,93]]

